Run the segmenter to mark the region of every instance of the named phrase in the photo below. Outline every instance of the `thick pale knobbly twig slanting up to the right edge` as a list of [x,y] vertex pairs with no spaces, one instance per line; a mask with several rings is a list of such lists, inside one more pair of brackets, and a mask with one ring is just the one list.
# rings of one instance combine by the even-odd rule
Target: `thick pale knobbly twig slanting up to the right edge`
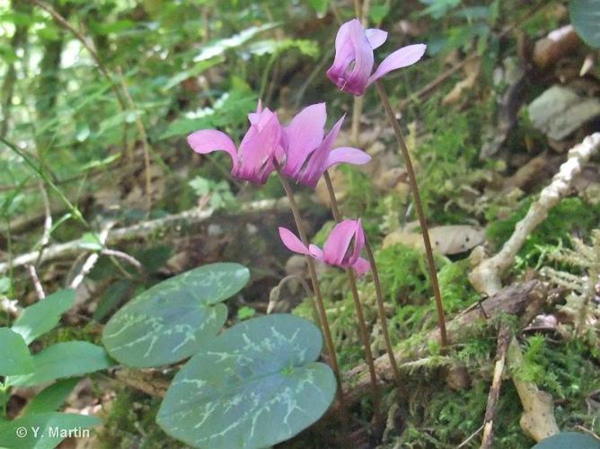
[[516,253],[527,237],[546,219],[548,212],[560,202],[560,198],[569,192],[571,183],[598,148],[600,148],[600,133],[595,133],[569,150],[567,162],[560,165],[560,171],[552,178],[551,184],[542,190],[540,198],[529,207],[527,215],[516,224],[515,231],[499,253],[481,261],[469,274],[469,280],[475,289],[488,295],[500,290],[502,275],[512,266]]

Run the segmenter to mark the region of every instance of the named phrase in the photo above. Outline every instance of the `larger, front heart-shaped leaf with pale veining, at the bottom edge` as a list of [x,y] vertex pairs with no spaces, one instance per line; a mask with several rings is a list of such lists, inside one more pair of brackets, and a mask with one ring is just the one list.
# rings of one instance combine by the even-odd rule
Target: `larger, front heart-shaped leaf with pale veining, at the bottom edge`
[[216,337],[175,376],[156,421],[194,447],[267,447],[295,436],[331,405],[336,382],[314,362],[321,332],[274,314]]

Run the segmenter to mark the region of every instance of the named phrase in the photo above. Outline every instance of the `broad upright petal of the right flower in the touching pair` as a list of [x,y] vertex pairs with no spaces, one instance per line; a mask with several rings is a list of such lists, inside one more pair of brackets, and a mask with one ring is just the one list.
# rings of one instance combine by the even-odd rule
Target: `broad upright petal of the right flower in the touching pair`
[[284,174],[296,176],[308,155],[321,143],[326,120],[325,103],[308,106],[292,119],[285,128],[287,158]]

